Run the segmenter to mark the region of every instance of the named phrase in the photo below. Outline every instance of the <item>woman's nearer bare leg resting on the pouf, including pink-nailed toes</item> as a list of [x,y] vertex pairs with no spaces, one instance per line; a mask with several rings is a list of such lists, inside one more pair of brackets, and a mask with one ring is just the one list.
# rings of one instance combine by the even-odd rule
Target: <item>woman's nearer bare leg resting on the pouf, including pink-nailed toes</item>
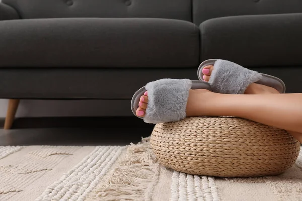
[[[147,108],[147,96],[142,99],[138,116],[144,116]],[[302,93],[230,95],[190,90],[187,116],[236,116],[302,133]]]

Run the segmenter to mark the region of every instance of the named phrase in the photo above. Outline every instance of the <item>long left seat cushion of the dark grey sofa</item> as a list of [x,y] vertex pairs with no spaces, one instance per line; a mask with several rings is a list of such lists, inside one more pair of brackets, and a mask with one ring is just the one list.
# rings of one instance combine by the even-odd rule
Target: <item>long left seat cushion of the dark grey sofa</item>
[[0,21],[0,67],[196,67],[199,29],[181,20]]

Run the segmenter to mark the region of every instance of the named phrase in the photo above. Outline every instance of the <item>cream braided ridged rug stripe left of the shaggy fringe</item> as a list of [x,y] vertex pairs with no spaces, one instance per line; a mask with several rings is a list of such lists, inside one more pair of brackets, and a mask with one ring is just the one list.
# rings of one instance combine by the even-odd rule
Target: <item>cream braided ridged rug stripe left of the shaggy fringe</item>
[[123,147],[96,147],[36,200],[84,200],[122,153]]

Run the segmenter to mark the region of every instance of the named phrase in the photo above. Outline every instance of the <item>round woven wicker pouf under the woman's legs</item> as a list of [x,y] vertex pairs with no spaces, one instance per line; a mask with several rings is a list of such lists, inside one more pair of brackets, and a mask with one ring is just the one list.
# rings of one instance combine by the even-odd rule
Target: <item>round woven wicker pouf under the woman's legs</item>
[[218,177],[277,175],[295,163],[300,151],[286,131],[234,117],[156,124],[150,142],[166,167]]

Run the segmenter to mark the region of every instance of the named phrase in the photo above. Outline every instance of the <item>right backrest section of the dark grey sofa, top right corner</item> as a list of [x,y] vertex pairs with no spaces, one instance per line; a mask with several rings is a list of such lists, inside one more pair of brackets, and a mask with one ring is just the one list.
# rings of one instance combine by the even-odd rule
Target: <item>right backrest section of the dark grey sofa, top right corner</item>
[[192,0],[193,22],[199,25],[212,18],[302,13],[301,0]]

